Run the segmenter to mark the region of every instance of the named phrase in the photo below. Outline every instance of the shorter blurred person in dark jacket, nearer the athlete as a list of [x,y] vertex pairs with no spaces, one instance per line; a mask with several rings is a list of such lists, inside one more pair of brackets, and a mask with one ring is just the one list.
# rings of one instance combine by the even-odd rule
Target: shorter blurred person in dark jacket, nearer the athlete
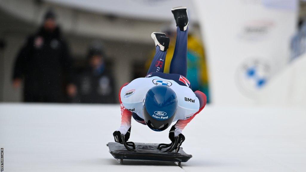
[[114,79],[104,62],[102,43],[95,41],[88,50],[87,66],[76,77],[80,103],[116,103]]

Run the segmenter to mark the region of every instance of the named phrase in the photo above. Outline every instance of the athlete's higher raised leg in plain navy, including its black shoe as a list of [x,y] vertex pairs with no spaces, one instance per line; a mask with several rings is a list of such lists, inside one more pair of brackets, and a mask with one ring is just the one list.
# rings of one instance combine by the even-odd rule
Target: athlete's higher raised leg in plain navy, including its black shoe
[[174,54],[170,63],[170,73],[176,73],[186,77],[187,75],[187,36],[188,15],[186,7],[172,9],[177,25],[177,36]]

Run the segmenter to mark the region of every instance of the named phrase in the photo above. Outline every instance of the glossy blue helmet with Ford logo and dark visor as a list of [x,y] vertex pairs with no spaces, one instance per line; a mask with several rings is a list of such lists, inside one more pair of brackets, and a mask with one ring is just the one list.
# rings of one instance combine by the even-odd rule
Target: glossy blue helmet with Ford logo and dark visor
[[146,94],[144,121],[154,131],[163,131],[173,122],[177,111],[177,96],[167,86],[154,86]]

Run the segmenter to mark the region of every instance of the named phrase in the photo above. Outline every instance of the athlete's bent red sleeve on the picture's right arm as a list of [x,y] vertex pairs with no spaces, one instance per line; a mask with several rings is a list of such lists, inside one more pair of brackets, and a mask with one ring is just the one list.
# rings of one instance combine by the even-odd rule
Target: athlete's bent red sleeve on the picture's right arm
[[206,105],[206,101],[207,101],[207,98],[206,98],[206,95],[203,93],[203,92],[200,92],[200,91],[195,91],[194,92],[196,94],[196,97],[199,99],[199,102],[200,102],[200,109],[199,111],[197,111],[191,118],[188,118],[188,119],[185,119],[185,120],[178,120],[177,123],[175,124],[175,128],[177,129],[181,129],[183,130],[185,128],[185,126],[198,114],[200,113],[205,105]]

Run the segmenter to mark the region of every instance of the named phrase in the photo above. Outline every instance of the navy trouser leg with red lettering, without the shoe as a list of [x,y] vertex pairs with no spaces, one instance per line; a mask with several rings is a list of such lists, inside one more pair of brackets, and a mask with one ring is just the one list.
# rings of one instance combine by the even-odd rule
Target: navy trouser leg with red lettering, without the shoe
[[161,51],[159,46],[156,46],[155,56],[151,62],[147,75],[152,72],[164,72],[166,54],[167,51]]

